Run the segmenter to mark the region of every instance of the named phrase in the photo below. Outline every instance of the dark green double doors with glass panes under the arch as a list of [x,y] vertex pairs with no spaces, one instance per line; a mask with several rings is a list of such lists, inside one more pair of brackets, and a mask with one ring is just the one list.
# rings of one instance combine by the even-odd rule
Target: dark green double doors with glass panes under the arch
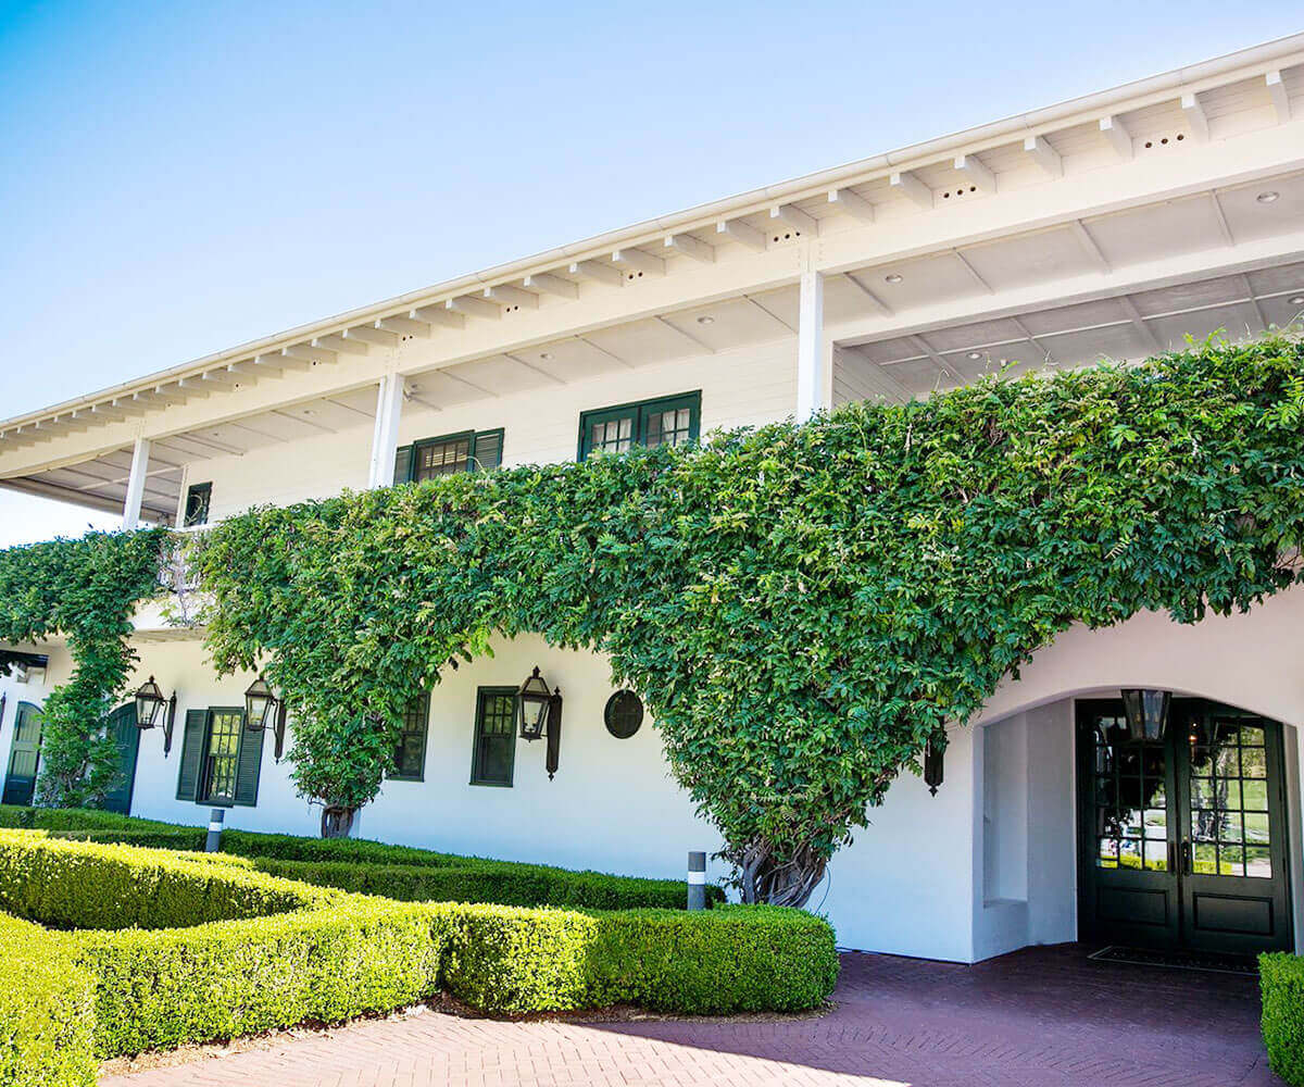
[[1082,940],[1294,947],[1281,726],[1175,698],[1162,740],[1121,699],[1077,703]]

